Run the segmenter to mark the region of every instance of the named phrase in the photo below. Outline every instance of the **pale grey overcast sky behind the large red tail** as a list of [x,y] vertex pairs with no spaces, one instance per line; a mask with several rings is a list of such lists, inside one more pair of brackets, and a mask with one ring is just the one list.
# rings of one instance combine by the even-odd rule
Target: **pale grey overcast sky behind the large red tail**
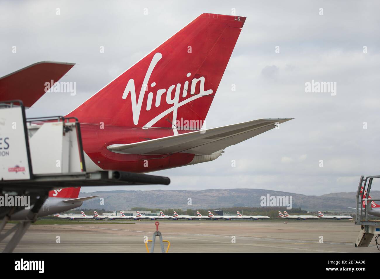
[[[247,20],[205,127],[295,119],[215,161],[153,173],[170,177],[169,186],[111,189],[321,195],[356,191],[360,175],[380,174],[378,1],[2,1],[0,76],[43,60],[77,63],[60,80],[76,82],[75,96],[47,93],[27,110],[29,117],[65,115],[199,14],[232,9]],[[336,95],[305,92],[312,79],[336,82]]]

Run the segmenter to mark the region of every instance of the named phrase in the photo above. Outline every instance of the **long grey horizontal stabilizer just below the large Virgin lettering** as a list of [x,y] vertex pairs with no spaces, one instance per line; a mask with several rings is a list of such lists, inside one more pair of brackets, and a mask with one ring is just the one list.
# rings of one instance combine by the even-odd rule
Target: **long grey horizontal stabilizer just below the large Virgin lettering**
[[292,118],[271,118],[248,121],[218,128],[146,140],[129,144],[113,144],[107,148],[124,154],[211,154],[275,128]]

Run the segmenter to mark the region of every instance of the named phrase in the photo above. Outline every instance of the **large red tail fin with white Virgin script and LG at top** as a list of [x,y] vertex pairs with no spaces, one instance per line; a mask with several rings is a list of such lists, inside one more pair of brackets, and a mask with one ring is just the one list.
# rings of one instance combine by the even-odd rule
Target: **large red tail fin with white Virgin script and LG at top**
[[198,121],[200,129],[244,21],[201,14],[68,116],[145,128]]

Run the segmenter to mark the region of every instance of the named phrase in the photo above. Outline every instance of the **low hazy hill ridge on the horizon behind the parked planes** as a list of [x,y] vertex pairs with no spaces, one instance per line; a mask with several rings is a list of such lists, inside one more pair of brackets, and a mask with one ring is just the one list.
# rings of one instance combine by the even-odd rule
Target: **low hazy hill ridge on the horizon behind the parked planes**
[[[83,202],[82,208],[104,208],[105,210],[128,210],[132,207],[206,209],[238,206],[260,206],[260,197],[267,194],[274,196],[292,196],[293,208],[308,211],[347,211],[355,207],[356,192],[331,193],[321,196],[301,195],[290,192],[264,189],[210,189],[202,191],[185,190],[151,190],[151,191],[97,191],[80,193],[79,197],[99,195],[100,197]],[[371,191],[379,196],[380,191]],[[104,198],[104,205],[99,204]],[[191,198],[191,205],[188,205]]]

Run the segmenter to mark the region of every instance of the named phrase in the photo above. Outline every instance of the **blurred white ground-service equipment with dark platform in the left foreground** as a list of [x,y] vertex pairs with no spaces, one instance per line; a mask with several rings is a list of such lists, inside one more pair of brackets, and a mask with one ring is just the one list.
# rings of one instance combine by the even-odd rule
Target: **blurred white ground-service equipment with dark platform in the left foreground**
[[22,101],[0,102],[0,198],[30,197],[25,220],[3,232],[20,205],[2,205],[0,241],[15,232],[3,252],[12,252],[44,206],[48,192],[78,186],[164,184],[168,177],[107,170],[87,172],[78,119],[25,118]]

